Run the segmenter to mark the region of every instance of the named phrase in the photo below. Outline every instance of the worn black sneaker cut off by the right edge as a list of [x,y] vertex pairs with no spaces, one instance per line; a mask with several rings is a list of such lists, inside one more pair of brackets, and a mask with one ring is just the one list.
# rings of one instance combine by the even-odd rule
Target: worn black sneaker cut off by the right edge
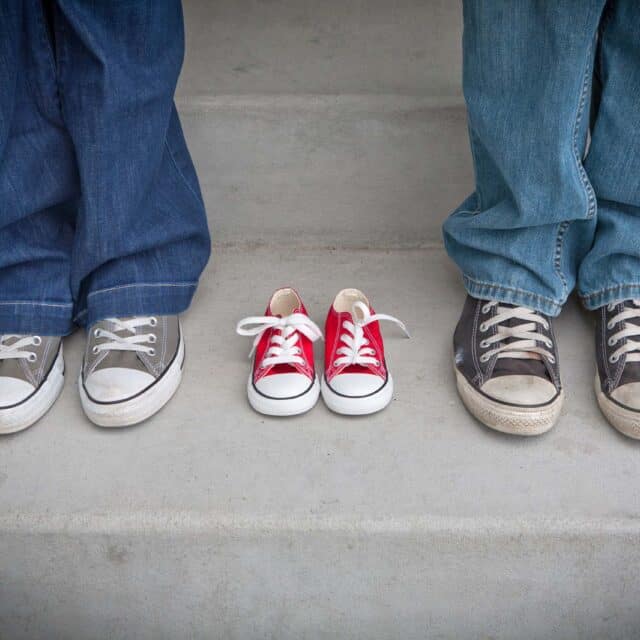
[[618,431],[640,439],[640,300],[598,309],[596,364],[602,413]]

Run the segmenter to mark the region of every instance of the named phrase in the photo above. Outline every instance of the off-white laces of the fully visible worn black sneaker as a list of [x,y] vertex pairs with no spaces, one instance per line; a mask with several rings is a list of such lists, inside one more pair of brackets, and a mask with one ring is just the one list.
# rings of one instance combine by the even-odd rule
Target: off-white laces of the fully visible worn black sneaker
[[[553,348],[550,338],[538,332],[538,325],[545,331],[549,330],[549,323],[539,313],[526,307],[503,307],[493,300],[482,307],[482,313],[487,314],[492,307],[497,306],[497,313],[493,318],[480,324],[480,331],[485,333],[491,327],[496,326],[494,335],[480,341],[482,349],[489,349],[480,356],[480,362],[487,362],[497,354],[498,358],[521,358],[529,360],[542,360],[547,358],[551,364],[555,363],[554,355],[547,349]],[[522,324],[510,327],[503,323],[508,320],[522,320]],[[540,347],[544,344],[547,349]],[[492,345],[495,345],[491,348]]]

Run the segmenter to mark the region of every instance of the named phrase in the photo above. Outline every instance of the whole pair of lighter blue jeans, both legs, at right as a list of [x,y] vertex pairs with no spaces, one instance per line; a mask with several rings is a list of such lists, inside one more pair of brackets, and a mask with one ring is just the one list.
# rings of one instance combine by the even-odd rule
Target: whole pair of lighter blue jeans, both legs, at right
[[476,190],[444,238],[468,292],[639,298],[640,3],[465,0],[463,45]]

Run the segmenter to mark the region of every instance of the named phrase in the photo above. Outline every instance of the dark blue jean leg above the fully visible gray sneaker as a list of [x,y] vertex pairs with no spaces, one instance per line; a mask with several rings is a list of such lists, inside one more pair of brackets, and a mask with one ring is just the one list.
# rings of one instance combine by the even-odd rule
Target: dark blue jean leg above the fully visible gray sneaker
[[175,314],[210,251],[204,204],[173,103],[179,0],[56,0],[63,114],[82,199],[75,319]]

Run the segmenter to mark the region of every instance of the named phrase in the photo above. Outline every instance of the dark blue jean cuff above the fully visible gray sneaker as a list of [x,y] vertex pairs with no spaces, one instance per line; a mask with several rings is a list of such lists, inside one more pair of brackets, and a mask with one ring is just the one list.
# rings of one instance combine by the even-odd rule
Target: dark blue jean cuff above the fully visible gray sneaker
[[197,282],[143,282],[90,291],[86,305],[75,315],[83,327],[105,318],[129,316],[173,316],[191,304]]

